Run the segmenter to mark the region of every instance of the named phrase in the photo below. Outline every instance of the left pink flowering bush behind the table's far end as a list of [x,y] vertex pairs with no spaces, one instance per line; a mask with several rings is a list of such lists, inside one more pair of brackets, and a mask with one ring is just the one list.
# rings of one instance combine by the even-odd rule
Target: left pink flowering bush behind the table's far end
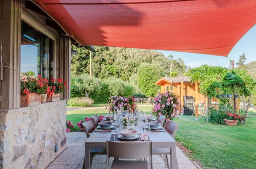
[[135,98],[129,96],[127,97],[123,97],[123,96],[111,96],[108,99],[108,107],[109,107],[109,111],[110,112],[114,112],[115,110],[119,109],[121,107],[121,105],[123,105],[124,110],[127,109],[127,105],[130,104],[131,105],[131,109],[134,110],[135,107]]

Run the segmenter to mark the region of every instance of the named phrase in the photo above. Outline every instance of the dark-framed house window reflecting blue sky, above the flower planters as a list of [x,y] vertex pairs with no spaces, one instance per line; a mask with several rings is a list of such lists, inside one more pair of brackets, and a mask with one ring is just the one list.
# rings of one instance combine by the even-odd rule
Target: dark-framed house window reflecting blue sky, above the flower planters
[[54,40],[22,21],[21,72],[53,77]]

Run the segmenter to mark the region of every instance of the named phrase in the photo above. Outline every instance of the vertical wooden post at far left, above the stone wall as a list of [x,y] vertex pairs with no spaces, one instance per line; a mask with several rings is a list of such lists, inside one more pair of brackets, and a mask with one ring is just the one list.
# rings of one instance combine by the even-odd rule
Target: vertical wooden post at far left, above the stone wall
[[1,109],[20,107],[21,0],[1,1],[0,62],[5,66],[1,81]]

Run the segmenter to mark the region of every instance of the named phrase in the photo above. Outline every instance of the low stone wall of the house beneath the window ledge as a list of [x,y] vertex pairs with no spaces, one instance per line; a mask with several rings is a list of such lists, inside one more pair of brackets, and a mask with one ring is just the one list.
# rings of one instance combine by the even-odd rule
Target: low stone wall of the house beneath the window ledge
[[45,168],[65,147],[65,100],[0,110],[1,168]]

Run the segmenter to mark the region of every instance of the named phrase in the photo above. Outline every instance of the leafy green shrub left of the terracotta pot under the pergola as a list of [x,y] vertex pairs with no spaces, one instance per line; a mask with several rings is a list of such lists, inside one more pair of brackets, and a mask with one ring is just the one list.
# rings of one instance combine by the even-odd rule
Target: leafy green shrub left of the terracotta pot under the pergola
[[210,113],[208,122],[213,124],[225,124],[223,119],[227,117],[227,108],[220,107],[219,110],[216,110],[215,108],[209,108],[209,111]]

